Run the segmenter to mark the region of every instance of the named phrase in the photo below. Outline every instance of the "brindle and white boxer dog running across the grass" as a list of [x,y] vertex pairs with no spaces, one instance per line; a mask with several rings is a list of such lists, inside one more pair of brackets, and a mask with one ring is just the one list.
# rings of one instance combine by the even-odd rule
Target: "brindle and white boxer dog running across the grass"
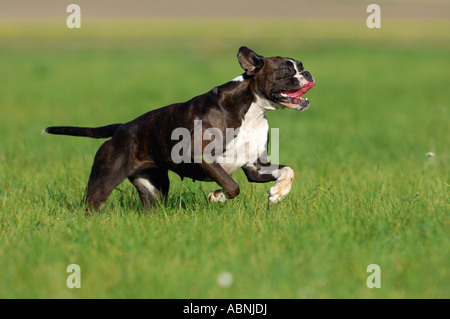
[[[225,202],[239,195],[239,185],[231,178],[239,168],[249,182],[276,181],[269,190],[269,203],[278,203],[288,195],[294,171],[268,161],[269,125],[265,113],[284,108],[306,110],[310,102],[302,95],[315,85],[314,78],[300,61],[279,56],[265,58],[245,46],[239,48],[237,58],[245,70],[243,74],[187,102],[155,109],[124,124],[53,126],[43,130],[50,134],[111,137],[95,155],[86,190],[87,209],[99,210],[111,192],[128,178],[144,208],[151,210],[158,202],[166,201],[169,170],[181,179],[216,182],[221,189],[209,193],[210,202]],[[177,140],[180,136],[187,141]],[[231,141],[219,138],[223,136],[231,136]],[[204,153],[207,150],[208,156]]]

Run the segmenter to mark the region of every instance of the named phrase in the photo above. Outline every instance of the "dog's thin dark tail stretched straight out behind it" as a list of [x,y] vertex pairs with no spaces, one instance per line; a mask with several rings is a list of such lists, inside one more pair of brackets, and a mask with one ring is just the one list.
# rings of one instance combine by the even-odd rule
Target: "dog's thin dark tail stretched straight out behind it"
[[45,128],[41,135],[44,133],[50,133],[92,138],[107,138],[113,136],[117,129],[121,126],[121,123],[101,127],[50,126]]

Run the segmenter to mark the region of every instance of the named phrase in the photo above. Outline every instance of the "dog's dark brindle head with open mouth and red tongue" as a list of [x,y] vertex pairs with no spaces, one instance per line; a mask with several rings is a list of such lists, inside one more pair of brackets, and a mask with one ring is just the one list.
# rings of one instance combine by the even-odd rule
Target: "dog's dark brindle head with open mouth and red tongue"
[[265,58],[247,47],[241,47],[238,60],[245,76],[255,81],[256,91],[276,108],[289,107],[304,111],[309,100],[302,97],[316,83],[303,63],[290,58]]

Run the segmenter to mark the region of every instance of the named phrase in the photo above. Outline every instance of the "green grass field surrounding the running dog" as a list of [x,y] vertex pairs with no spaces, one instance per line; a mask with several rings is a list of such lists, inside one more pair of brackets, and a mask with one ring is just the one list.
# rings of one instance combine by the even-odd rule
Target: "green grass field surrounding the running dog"
[[[450,297],[448,23],[205,23],[1,24],[0,298]],[[290,195],[269,207],[273,183],[238,172],[241,194],[209,204],[217,185],[172,174],[152,214],[129,182],[86,214],[102,141],[41,130],[188,100],[241,73],[240,45],[300,59],[317,81],[306,112],[267,114]]]

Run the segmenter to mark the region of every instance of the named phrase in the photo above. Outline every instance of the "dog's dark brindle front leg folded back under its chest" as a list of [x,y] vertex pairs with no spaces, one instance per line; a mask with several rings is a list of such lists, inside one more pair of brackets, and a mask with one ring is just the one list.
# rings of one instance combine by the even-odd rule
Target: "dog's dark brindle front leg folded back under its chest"
[[222,187],[208,195],[210,202],[225,202],[239,195],[239,185],[225,172],[219,164],[202,162],[199,164],[213,181]]

